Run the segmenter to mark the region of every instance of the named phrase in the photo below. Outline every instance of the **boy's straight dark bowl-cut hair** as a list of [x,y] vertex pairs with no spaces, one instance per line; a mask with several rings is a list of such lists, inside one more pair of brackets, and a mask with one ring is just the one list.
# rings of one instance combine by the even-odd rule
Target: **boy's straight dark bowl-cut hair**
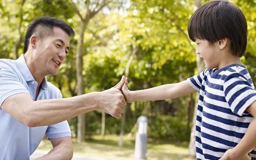
[[226,0],[211,1],[192,15],[188,35],[192,41],[203,39],[211,45],[228,38],[233,55],[242,57],[247,45],[246,18],[237,6]]

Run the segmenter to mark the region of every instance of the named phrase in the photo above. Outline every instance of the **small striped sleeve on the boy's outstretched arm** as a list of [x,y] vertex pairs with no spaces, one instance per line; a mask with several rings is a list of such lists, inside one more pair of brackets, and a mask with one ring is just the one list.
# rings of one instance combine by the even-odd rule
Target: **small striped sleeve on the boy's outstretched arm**
[[202,71],[200,74],[198,75],[194,75],[190,78],[188,78],[188,82],[189,84],[197,91],[200,92],[201,86],[202,86],[202,82],[204,79],[204,75],[207,72],[208,69]]

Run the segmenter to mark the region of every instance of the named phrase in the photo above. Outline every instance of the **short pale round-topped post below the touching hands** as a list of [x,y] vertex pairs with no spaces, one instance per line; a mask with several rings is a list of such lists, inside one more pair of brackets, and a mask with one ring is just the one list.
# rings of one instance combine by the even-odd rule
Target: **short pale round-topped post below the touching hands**
[[137,122],[139,125],[136,133],[134,157],[136,159],[146,159],[148,118],[141,115]]

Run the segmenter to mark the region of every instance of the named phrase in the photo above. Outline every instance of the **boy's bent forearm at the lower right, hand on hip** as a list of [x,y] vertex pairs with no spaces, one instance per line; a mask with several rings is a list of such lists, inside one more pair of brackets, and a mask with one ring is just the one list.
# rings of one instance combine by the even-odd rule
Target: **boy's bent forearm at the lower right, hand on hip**
[[244,137],[234,147],[235,156],[242,156],[248,154],[252,148],[256,146],[256,118],[250,123]]

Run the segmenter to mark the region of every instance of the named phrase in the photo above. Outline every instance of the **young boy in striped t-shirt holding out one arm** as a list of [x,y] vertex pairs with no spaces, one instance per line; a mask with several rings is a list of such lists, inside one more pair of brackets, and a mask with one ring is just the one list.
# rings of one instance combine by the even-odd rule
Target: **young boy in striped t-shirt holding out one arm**
[[197,160],[256,159],[256,91],[241,63],[247,24],[234,4],[216,0],[190,18],[188,34],[206,70],[183,82],[122,93],[128,102],[164,100],[199,92],[196,117]]

